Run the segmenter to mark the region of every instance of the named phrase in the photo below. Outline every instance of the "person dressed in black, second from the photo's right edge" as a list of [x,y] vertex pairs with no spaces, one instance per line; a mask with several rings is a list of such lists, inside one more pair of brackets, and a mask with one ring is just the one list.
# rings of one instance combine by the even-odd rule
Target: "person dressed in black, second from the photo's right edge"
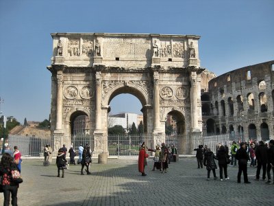
[[267,146],[264,141],[259,141],[259,146],[255,150],[255,155],[257,159],[257,172],[256,181],[260,179],[260,170],[262,168],[262,179],[266,179],[266,163],[267,163]]

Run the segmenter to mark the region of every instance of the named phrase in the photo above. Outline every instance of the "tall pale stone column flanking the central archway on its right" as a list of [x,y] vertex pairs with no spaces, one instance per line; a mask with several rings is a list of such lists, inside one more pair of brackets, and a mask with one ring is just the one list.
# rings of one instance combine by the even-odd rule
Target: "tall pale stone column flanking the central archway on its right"
[[159,73],[154,71],[153,74],[153,108],[154,108],[154,131],[160,130],[160,106],[159,106]]

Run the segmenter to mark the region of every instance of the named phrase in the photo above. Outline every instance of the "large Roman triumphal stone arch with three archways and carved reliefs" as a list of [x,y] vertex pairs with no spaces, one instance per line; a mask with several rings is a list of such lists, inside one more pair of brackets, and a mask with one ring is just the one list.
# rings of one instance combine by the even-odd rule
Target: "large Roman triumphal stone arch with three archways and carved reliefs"
[[166,115],[177,120],[180,154],[201,135],[201,73],[195,35],[55,33],[51,66],[54,149],[71,144],[71,122],[90,118],[95,154],[108,152],[110,101],[129,93],[142,104],[145,134],[164,141]]

